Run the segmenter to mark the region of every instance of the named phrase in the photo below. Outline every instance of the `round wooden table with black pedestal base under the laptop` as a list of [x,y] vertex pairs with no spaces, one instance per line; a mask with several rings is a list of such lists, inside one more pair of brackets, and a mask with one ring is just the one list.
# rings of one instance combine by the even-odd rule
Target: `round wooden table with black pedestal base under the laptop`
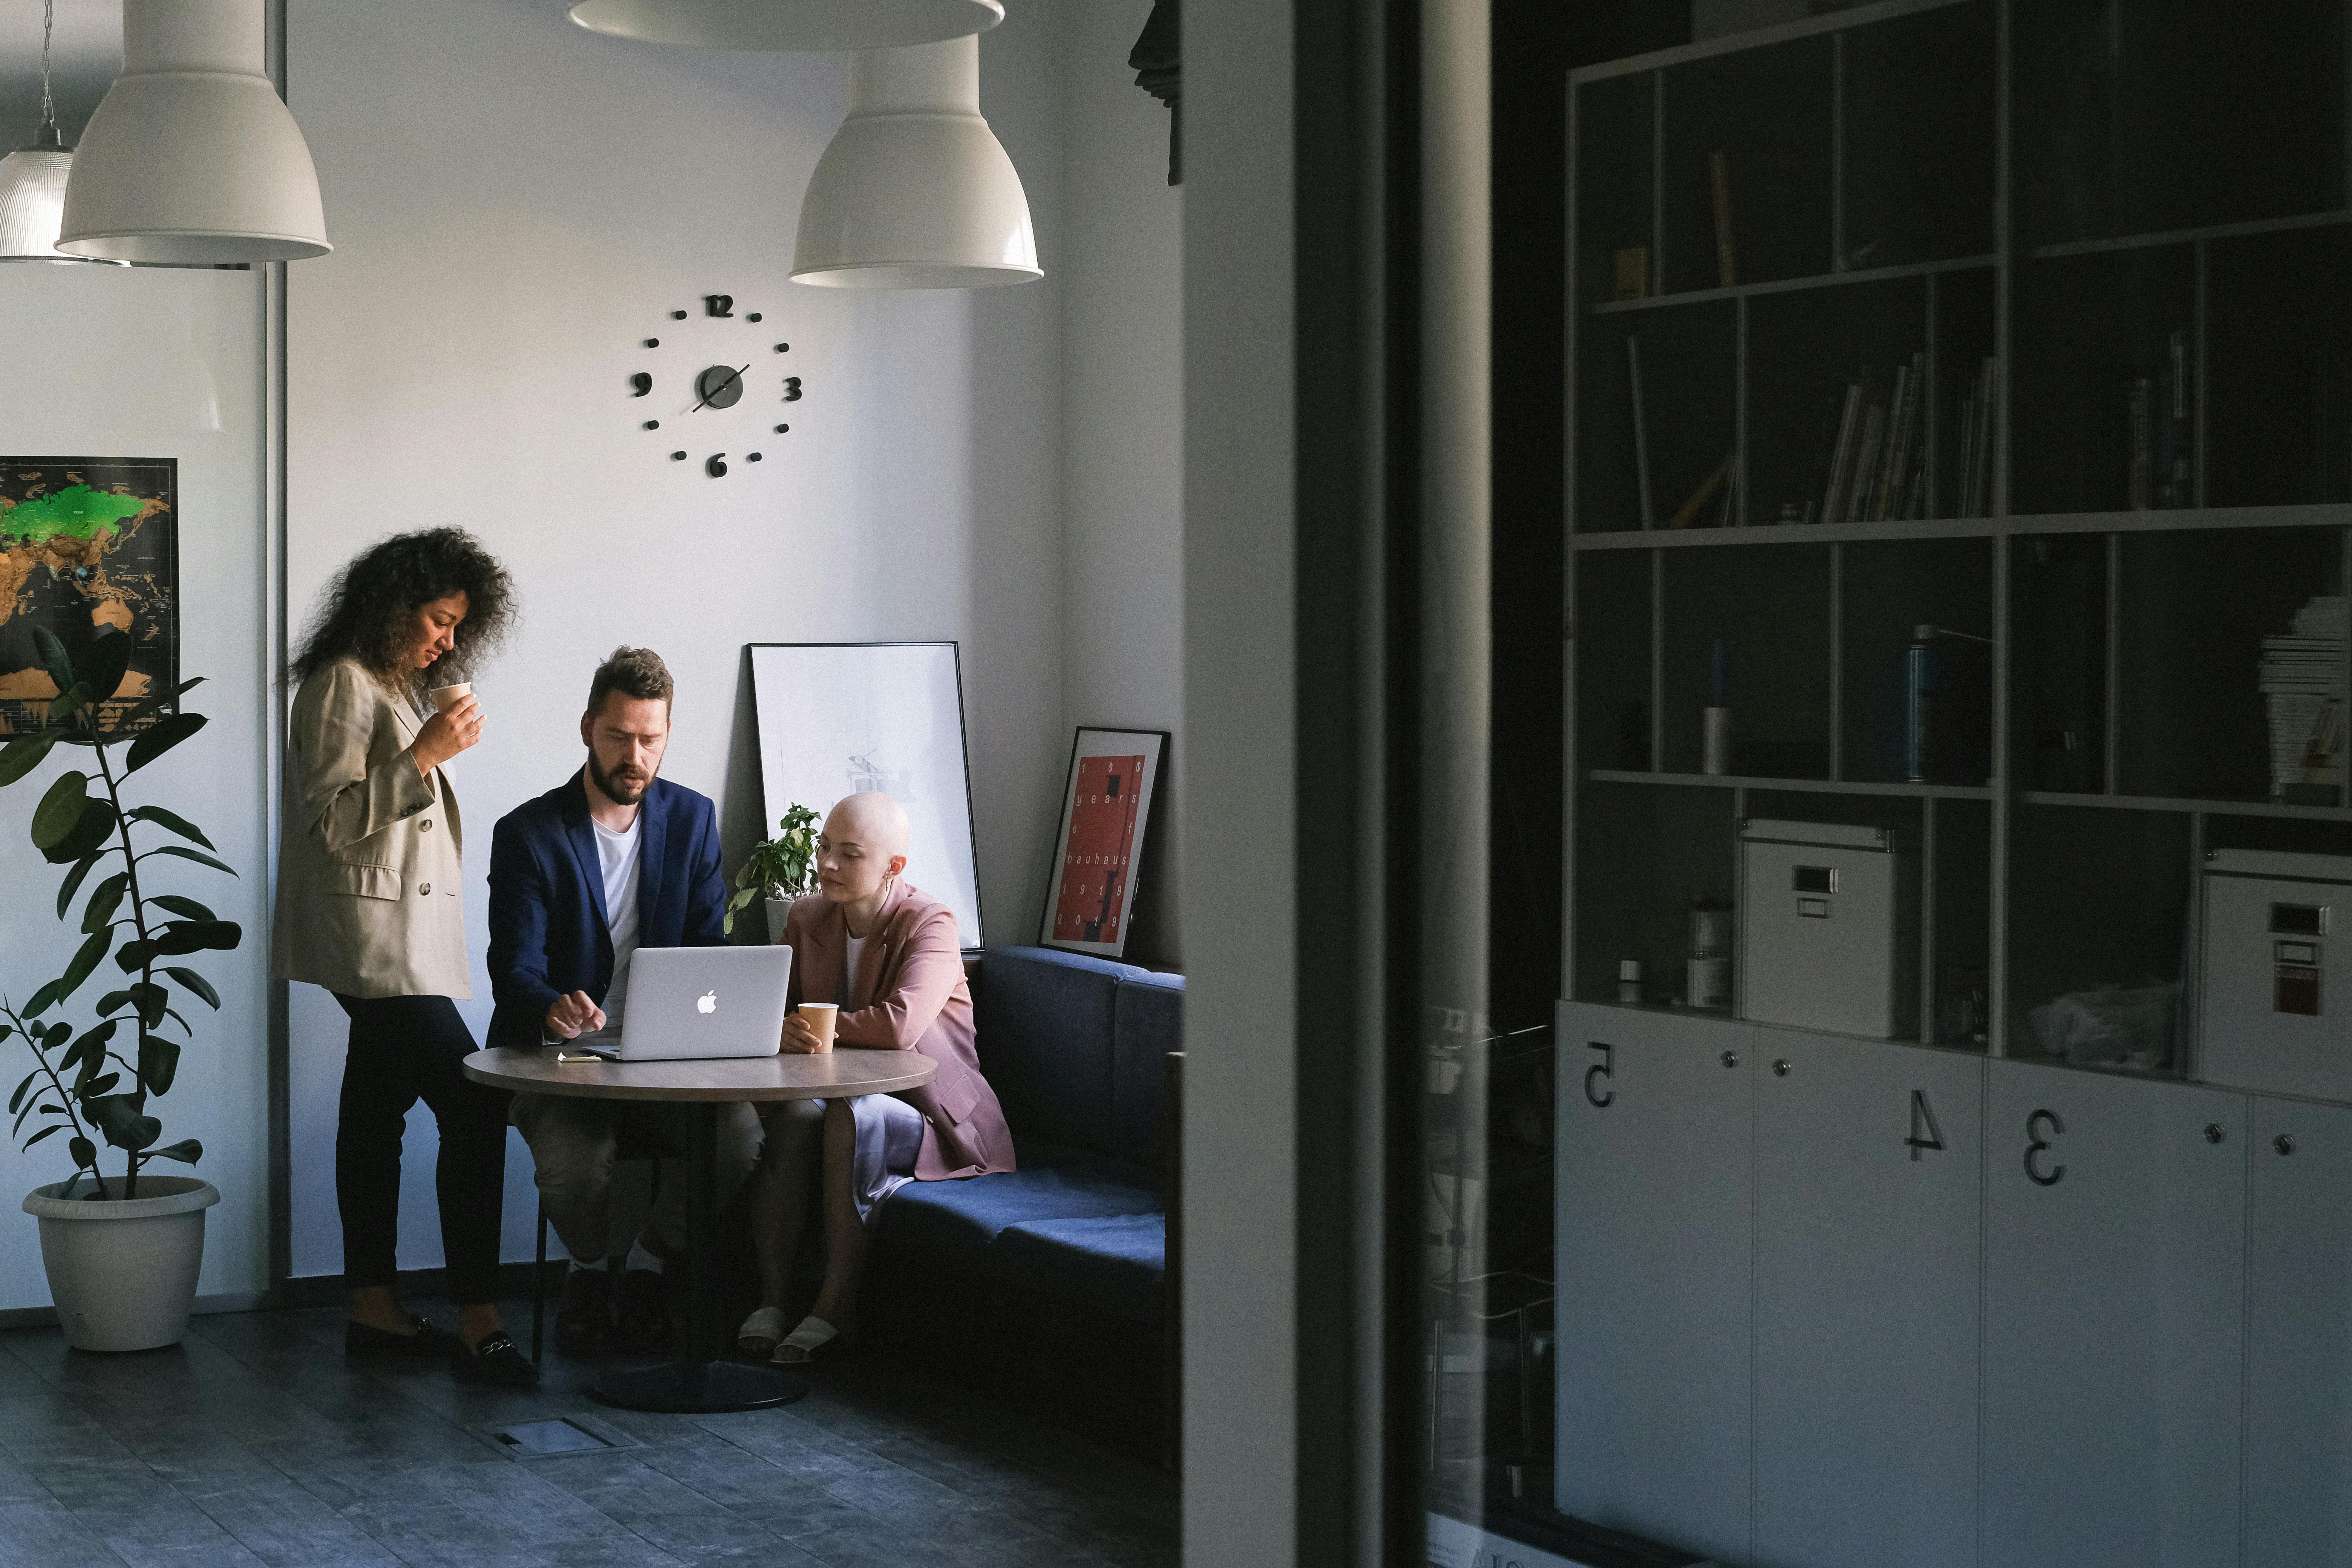
[[687,1359],[635,1373],[609,1373],[590,1394],[623,1410],[710,1415],[762,1410],[809,1392],[771,1366],[724,1361],[727,1326],[713,1286],[717,1251],[717,1128],[731,1100],[833,1100],[929,1084],[938,1063],[920,1051],[826,1051],[823,1056],[743,1056],[670,1063],[557,1063],[555,1046],[499,1046],[466,1058],[466,1077],[513,1093],[581,1100],[689,1103],[687,1119]]

